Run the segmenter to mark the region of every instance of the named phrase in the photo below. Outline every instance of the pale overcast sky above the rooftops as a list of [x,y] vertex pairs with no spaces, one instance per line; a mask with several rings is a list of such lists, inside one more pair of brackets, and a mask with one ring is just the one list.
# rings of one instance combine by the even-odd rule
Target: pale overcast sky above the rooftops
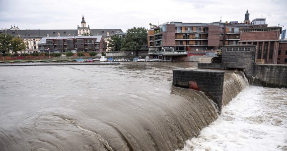
[[211,23],[266,18],[287,27],[286,0],[0,0],[0,28],[77,29],[82,14],[91,29],[127,29],[169,21]]

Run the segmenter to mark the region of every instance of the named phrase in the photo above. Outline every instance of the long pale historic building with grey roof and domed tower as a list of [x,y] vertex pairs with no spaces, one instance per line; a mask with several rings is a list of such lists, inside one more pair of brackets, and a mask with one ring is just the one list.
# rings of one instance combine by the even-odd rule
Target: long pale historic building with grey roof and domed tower
[[[85,36],[85,35],[94,35],[102,36],[105,44],[108,45],[108,39],[116,33],[123,33],[121,29],[90,29],[90,26],[86,25],[84,16],[82,17],[81,26],[78,25],[77,29],[51,29],[51,30],[21,30],[18,26],[11,26],[10,29],[1,29],[0,34],[10,34],[14,37],[20,37],[26,43],[26,50],[22,53],[33,53],[40,52],[42,47],[42,38],[51,38],[51,37],[74,37],[74,36]],[[41,42],[40,42],[41,41]],[[79,50],[79,49],[78,49]],[[102,51],[109,51],[108,46],[104,47]]]

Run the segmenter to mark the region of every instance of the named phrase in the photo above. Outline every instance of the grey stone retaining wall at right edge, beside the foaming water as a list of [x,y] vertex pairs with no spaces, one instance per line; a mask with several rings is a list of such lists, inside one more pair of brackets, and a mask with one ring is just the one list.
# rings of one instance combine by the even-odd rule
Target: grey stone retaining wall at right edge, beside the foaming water
[[251,84],[287,88],[287,65],[256,64]]

